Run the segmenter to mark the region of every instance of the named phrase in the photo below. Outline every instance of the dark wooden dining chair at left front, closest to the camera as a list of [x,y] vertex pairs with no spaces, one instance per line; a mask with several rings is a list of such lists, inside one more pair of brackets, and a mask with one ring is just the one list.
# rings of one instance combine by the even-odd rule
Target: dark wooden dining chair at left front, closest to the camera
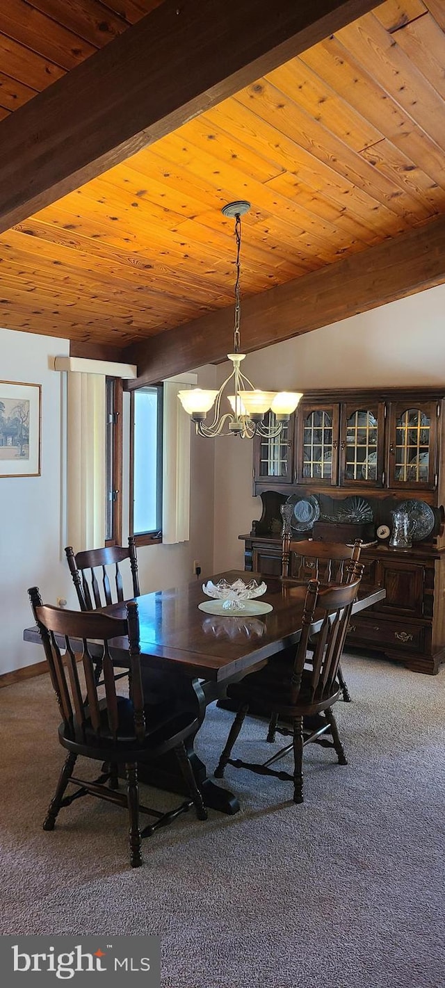
[[[196,709],[190,708],[192,700],[184,704],[182,699],[175,697],[150,703],[149,698],[143,697],[139,622],[134,601],[126,605],[127,617],[118,618],[44,605],[38,587],[32,587],[29,595],[62,717],[58,739],[68,751],[49,803],[44,830],[53,830],[60,808],[80,796],[92,794],[125,806],[130,816],[130,860],[132,866],[137,867],[142,864],[141,838],[170,823],[193,804],[198,818],[207,819],[203,795],[185,745],[185,741],[196,734],[201,723],[198,695]],[[112,658],[114,638],[124,638],[125,641],[128,638],[129,697],[120,696],[116,691]],[[98,652],[104,673],[103,691],[99,691],[95,678]],[[102,693],[104,696],[101,696]],[[161,813],[139,803],[137,766],[156,761],[169,751],[176,755],[190,796],[176,809]],[[104,763],[100,776],[94,782],[74,774],[79,755]],[[114,765],[125,766],[126,794],[116,788],[118,782],[111,768]],[[75,789],[70,795],[65,795],[68,784]],[[143,830],[139,829],[139,812],[154,817],[154,822]]]

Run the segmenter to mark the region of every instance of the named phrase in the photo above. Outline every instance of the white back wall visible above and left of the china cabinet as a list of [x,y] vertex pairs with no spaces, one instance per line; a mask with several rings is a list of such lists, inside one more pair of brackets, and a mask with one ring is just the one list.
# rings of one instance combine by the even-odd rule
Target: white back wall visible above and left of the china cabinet
[[[443,387],[445,286],[259,350],[244,363],[255,386],[271,390]],[[223,381],[227,365],[219,370]],[[215,567],[242,568],[244,543],[237,536],[250,532],[252,520],[261,517],[261,500],[252,496],[252,444],[230,436],[220,441],[216,456]]]

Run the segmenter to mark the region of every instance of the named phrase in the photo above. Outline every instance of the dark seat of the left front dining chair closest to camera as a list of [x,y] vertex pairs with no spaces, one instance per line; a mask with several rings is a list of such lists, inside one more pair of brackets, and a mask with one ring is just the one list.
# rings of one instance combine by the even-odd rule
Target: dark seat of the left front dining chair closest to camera
[[101,700],[100,736],[93,728],[90,719],[83,726],[75,718],[72,721],[72,731],[65,724],[59,726],[59,740],[63,747],[76,754],[86,754],[92,757],[91,750],[97,750],[98,759],[118,759],[121,762],[132,759],[144,761],[158,758],[163,746],[170,749],[173,743],[180,741],[191,732],[198,730],[199,720],[196,712],[184,708],[175,708],[174,700],[169,698],[162,703],[153,705],[146,703],[143,707],[145,717],[145,736],[143,742],[134,738],[134,704],[128,697],[117,697],[118,701],[118,730],[116,740],[108,723],[107,701]]

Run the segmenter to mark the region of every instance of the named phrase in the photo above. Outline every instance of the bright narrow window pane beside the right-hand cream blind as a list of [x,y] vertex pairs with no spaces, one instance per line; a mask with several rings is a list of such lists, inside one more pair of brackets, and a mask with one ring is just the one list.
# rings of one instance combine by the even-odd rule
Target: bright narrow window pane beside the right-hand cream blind
[[162,385],[131,395],[131,519],[138,544],[160,541],[162,530]]

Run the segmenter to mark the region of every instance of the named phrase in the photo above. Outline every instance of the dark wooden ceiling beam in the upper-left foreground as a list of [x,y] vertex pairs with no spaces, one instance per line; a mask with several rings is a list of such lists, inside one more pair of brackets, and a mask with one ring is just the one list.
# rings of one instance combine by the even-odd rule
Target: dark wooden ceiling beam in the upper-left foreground
[[1,123],[0,232],[373,6],[165,0]]

